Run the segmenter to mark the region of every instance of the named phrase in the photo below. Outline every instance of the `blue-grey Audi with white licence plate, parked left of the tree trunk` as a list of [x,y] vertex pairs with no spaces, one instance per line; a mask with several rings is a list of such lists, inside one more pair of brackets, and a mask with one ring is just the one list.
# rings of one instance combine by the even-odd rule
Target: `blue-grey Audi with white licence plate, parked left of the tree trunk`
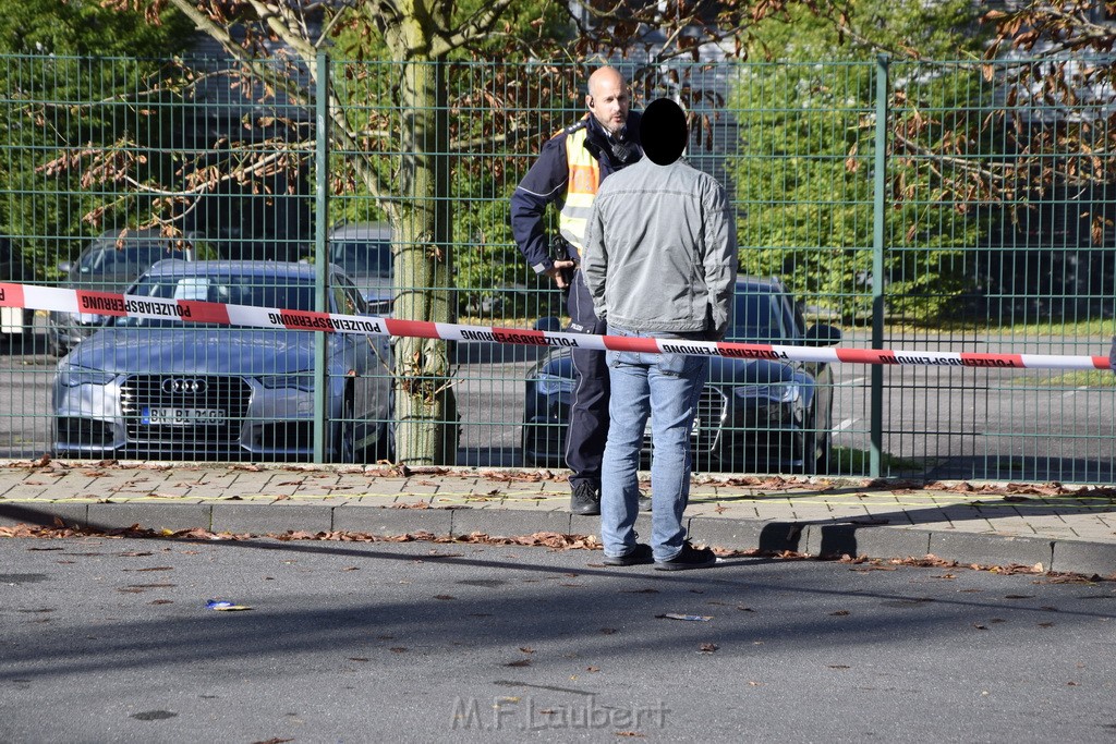
[[[328,271],[328,310],[369,315]],[[315,267],[164,260],[128,294],[315,309]],[[316,332],[116,317],[59,360],[57,457],[301,461],[314,454]],[[334,460],[391,456],[384,336],[326,334],[327,446]]]

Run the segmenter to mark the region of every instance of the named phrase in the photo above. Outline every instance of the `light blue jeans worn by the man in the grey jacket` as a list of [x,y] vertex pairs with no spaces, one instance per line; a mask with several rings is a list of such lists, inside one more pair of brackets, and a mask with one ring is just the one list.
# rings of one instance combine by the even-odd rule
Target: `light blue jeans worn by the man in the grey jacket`
[[[610,327],[610,336],[650,334]],[[703,334],[658,334],[656,338],[704,338]],[[639,450],[651,417],[651,547],[656,561],[682,550],[682,513],[690,500],[691,451],[698,398],[709,359],[681,354],[607,351],[612,396],[608,443],[600,479],[600,539],[605,555],[626,555],[636,545],[639,513]]]

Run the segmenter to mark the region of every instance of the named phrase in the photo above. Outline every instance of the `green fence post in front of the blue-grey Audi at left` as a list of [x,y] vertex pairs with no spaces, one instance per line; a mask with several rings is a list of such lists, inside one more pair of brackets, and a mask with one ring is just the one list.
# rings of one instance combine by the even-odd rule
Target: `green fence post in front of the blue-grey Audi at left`
[[[315,88],[315,160],[314,171],[314,289],[315,309],[325,312],[328,305],[326,296],[326,271],[329,267],[329,252],[326,245],[329,230],[329,58],[319,51],[317,59],[317,78]],[[326,461],[326,427],[329,423],[329,397],[326,395],[326,335],[315,334],[314,347],[314,462]]]

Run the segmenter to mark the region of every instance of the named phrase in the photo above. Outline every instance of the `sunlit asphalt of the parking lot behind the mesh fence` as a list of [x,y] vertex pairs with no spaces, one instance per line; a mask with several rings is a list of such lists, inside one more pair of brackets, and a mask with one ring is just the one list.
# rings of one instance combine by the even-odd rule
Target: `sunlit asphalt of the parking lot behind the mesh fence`
[[[40,319],[41,320],[41,319]],[[849,346],[867,346],[849,332]],[[888,339],[894,348],[1003,351],[1003,344]],[[458,395],[462,414],[459,464],[519,466],[523,379],[538,349],[459,345]],[[1018,349],[1017,349],[1018,350]],[[1100,354],[1055,339],[1033,354]],[[45,337],[29,347],[0,348],[0,457],[35,457],[48,448],[55,357]],[[834,443],[866,451],[870,436],[867,365],[837,365]],[[1116,482],[1116,388],[1060,381],[1059,370],[985,370],[888,367],[883,451],[926,463],[920,472],[887,473],[929,480]],[[859,473],[856,473],[859,474]]]

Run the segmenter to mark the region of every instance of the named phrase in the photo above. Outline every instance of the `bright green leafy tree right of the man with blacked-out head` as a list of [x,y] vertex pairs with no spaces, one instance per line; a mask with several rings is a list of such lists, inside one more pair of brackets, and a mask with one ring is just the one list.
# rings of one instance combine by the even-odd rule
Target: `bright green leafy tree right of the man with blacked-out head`
[[978,54],[975,23],[968,1],[863,2],[837,19],[791,9],[757,30],[752,58],[768,61],[743,64],[732,96],[742,271],[786,277],[847,319],[870,313],[876,56],[886,52],[896,59],[885,174],[891,310],[934,317],[955,307],[971,287],[966,250],[990,219],[977,219],[973,194],[943,199],[955,193],[954,175],[934,154],[958,132],[975,133],[990,102],[975,65],[905,60]]

